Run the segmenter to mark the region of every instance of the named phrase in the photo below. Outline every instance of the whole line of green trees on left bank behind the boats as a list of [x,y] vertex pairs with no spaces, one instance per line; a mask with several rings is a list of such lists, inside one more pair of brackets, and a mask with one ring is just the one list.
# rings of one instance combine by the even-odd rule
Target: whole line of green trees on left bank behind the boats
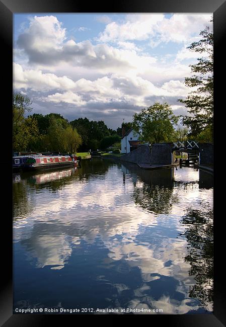
[[26,114],[32,111],[31,100],[13,93],[13,150],[74,153],[106,149],[121,140],[120,131],[107,127],[103,120],[78,118],[68,121],[60,114]]

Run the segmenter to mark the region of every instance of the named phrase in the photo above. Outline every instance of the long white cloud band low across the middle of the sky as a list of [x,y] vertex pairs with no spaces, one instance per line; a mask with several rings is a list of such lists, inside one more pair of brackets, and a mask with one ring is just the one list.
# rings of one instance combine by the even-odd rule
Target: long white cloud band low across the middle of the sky
[[66,103],[76,107],[86,104],[91,106],[96,103],[125,103],[145,107],[149,106],[151,97],[179,98],[188,93],[188,89],[179,80],[170,80],[161,86],[155,86],[147,79],[128,73],[111,74],[93,81],[85,78],[73,81],[66,76],[58,77],[53,73],[42,73],[41,70],[23,70],[22,66],[16,63],[14,63],[14,86],[16,89],[30,89],[35,92],[50,93],[59,90],[42,96],[40,100],[56,104]]

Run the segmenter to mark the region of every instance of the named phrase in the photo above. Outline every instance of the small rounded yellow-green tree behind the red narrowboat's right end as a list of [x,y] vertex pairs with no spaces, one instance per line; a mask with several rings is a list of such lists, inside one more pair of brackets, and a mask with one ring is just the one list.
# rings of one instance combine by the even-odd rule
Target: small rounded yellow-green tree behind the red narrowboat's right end
[[79,135],[76,129],[72,126],[68,126],[63,131],[64,150],[69,153],[77,152],[77,148],[82,144],[82,137]]

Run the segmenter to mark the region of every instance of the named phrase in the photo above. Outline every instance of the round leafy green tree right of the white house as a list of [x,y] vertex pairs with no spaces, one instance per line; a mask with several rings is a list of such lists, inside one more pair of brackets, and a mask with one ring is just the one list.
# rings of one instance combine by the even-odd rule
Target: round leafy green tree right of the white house
[[157,102],[133,115],[133,129],[140,134],[140,140],[145,142],[171,142],[175,133],[173,125],[178,119],[173,115],[170,105]]

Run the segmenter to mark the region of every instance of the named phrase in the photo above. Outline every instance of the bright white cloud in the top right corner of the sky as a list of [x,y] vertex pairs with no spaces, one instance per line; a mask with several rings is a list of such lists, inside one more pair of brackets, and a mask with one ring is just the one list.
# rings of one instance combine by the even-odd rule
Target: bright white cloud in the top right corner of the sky
[[170,19],[163,14],[127,15],[123,23],[111,22],[99,34],[101,42],[147,40],[155,47],[161,42],[187,42],[203,29],[211,14],[176,14]]

